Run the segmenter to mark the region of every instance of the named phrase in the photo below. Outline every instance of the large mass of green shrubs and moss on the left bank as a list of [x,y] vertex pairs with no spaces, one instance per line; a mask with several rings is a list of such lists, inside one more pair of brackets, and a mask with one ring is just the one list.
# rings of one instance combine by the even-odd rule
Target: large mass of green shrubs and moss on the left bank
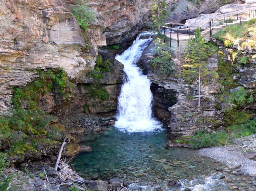
[[[60,93],[67,101],[69,87],[63,69],[38,70],[38,78],[23,88],[12,88],[10,115],[0,117],[0,151],[8,155],[24,155],[38,152],[37,141],[55,142],[63,136],[62,132],[51,125],[54,118],[38,109],[37,99],[46,92]],[[41,97],[41,96],[40,96]]]

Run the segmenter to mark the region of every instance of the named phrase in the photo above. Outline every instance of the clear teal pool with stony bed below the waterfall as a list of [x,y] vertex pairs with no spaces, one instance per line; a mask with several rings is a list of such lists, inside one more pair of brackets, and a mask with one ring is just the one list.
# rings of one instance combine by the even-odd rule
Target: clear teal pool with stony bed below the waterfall
[[[223,164],[197,156],[197,150],[168,148],[167,133],[166,130],[127,133],[109,128],[105,135],[99,134],[95,140],[83,143],[93,150],[80,153],[72,163],[89,180],[121,178],[143,186],[159,184],[163,190],[170,190],[167,183],[176,179],[184,188],[230,190],[232,182],[219,181],[220,172],[214,170]],[[235,179],[246,183],[241,177]]]

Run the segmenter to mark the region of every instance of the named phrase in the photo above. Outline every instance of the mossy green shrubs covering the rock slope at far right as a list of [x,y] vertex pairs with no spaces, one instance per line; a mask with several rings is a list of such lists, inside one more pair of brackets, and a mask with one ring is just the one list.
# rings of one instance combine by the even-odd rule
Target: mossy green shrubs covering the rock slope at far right
[[[233,52],[232,60],[237,59],[241,53],[241,51]],[[222,51],[218,52],[219,68],[217,72],[220,76],[219,82],[222,88],[219,98],[220,103],[216,106],[225,114],[225,130],[231,137],[247,136],[254,133],[254,120],[250,120],[253,115],[242,111],[242,108],[254,102],[254,91],[240,87],[230,92],[230,89],[238,87],[232,78],[235,74],[235,64],[225,60],[225,57],[226,55]]]

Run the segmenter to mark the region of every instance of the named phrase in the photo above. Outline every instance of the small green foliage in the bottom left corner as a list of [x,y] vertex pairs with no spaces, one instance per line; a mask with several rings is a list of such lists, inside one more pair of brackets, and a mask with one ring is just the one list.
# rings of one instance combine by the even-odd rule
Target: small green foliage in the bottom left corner
[[5,178],[2,175],[2,171],[7,167],[7,164],[9,162],[6,162],[6,154],[3,154],[0,152],[0,191],[6,191],[9,187],[9,183],[11,182],[12,178],[15,176],[15,174],[12,174],[10,177]]

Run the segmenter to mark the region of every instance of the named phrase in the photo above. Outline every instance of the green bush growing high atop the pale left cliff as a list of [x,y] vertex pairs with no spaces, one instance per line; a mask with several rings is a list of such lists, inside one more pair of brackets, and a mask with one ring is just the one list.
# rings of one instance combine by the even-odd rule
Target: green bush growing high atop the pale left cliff
[[95,12],[87,6],[88,0],[82,0],[76,4],[76,7],[70,7],[71,13],[76,17],[78,25],[83,30],[88,30],[90,22],[95,21]]

